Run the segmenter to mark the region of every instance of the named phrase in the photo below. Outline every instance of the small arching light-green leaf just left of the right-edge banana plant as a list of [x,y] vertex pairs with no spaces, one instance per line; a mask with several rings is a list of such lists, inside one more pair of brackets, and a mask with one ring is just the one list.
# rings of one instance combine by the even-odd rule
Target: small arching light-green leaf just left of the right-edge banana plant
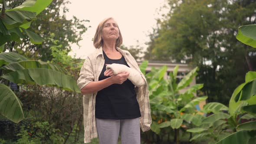
[[210,102],[203,106],[204,113],[218,113],[220,111],[228,111],[228,107],[219,102]]

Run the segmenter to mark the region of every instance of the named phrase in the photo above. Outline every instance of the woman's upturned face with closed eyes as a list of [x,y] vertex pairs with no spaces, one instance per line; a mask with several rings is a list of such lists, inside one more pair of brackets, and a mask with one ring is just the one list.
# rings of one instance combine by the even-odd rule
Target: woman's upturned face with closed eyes
[[119,37],[118,25],[115,20],[106,21],[102,29],[103,40],[116,40]]

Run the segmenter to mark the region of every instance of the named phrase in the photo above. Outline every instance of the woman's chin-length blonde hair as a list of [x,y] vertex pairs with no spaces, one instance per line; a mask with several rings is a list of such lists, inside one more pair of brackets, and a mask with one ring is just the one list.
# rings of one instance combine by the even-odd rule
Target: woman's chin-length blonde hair
[[[94,35],[94,39],[93,39],[93,45],[96,49],[100,48],[101,46],[103,46],[103,39],[102,39],[102,29],[103,29],[103,26],[104,24],[108,21],[108,20],[114,20],[112,17],[109,17],[109,18],[106,18],[105,20],[102,20],[102,22],[100,22],[98,24],[98,27],[96,29],[96,33]],[[119,30],[119,37],[118,39],[116,39],[115,41],[115,47],[120,47],[121,44],[123,43],[123,37],[121,35],[121,32],[120,32],[120,29],[118,27],[118,30]]]

